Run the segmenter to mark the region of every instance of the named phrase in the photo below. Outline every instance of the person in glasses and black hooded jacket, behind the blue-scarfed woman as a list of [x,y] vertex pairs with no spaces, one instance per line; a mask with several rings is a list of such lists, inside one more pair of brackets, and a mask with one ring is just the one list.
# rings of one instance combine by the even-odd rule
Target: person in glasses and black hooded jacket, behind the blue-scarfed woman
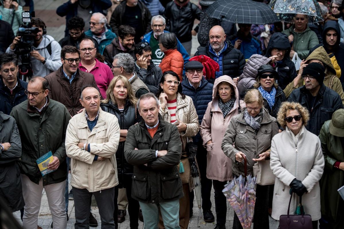
[[284,90],[297,76],[295,64],[290,60],[290,43],[284,33],[272,34],[266,47],[266,57],[270,58],[269,64],[277,71],[278,85]]

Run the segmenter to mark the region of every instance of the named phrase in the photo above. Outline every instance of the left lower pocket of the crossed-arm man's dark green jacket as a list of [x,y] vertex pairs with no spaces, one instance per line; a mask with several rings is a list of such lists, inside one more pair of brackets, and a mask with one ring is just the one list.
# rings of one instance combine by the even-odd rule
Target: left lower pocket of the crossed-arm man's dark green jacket
[[131,195],[143,201],[147,201],[149,197],[149,186],[147,174],[135,173],[132,175]]

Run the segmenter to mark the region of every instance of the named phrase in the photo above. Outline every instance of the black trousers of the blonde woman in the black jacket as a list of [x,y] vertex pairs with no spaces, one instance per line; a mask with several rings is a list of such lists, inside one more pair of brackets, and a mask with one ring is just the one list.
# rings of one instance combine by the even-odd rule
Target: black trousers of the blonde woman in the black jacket
[[[130,229],[137,229],[139,227],[139,211],[140,205],[136,199],[131,198],[131,179],[126,183],[126,194],[128,198],[128,213],[129,213],[129,220],[130,220]],[[118,193],[118,188],[115,187]],[[117,206],[117,196],[115,196],[114,204]],[[118,209],[118,207],[117,207]],[[117,219],[117,211],[114,211],[114,219]]]

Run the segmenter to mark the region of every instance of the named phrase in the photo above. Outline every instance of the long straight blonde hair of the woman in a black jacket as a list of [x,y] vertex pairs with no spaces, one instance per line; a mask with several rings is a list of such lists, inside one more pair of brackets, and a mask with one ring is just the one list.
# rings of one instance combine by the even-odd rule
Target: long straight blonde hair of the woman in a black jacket
[[114,88],[115,88],[117,81],[119,81],[119,80],[121,80],[123,82],[124,86],[127,87],[127,98],[129,99],[131,105],[136,106],[137,99],[136,99],[135,94],[131,88],[130,82],[125,76],[122,76],[122,75],[115,76],[111,80],[109,87],[106,90],[106,99],[102,100],[101,102],[102,103],[108,103],[111,100],[112,103],[116,104],[115,95],[114,95]]

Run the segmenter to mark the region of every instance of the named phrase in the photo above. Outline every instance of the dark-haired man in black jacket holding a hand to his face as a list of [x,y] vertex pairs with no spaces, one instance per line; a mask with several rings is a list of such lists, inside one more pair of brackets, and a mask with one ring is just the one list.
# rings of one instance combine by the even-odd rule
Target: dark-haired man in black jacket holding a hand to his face
[[157,94],[160,87],[162,71],[152,60],[152,49],[147,42],[135,45],[135,68],[138,77],[147,85],[150,92]]

